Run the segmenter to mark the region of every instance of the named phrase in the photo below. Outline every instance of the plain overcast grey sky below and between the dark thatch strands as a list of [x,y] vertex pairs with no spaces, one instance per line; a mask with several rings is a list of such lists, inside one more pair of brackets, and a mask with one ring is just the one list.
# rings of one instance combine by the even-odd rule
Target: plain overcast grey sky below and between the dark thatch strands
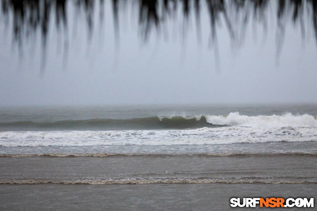
[[[274,9],[274,8],[273,8]],[[74,11],[68,6],[68,36],[73,35]],[[202,42],[197,44],[195,20],[189,18],[184,36],[183,19],[169,21],[151,31],[149,42],[140,38],[135,11],[120,13],[119,50],[114,42],[111,5],[106,4],[104,27],[95,14],[91,43],[85,17],[78,20],[77,36],[63,61],[63,36],[50,25],[47,58],[41,75],[41,41],[23,43],[23,60],[12,44],[12,28],[0,19],[0,105],[102,105],[201,103],[307,103],[317,102],[317,50],[313,29],[301,38],[299,26],[286,24],[281,56],[276,62],[276,17],[268,18],[263,37],[261,24],[249,22],[245,41],[231,43],[222,21],[217,26],[220,68],[208,48],[210,23],[201,14]],[[61,38],[61,39],[60,39]],[[33,46],[33,47],[32,47]],[[59,49],[59,46],[61,47]]]

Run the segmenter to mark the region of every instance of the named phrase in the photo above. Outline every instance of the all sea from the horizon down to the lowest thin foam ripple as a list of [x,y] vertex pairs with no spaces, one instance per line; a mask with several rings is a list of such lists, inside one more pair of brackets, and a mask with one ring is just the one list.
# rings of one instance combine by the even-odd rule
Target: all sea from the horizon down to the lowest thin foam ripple
[[316,183],[316,115],[317,105],[1,108],[0,183]]

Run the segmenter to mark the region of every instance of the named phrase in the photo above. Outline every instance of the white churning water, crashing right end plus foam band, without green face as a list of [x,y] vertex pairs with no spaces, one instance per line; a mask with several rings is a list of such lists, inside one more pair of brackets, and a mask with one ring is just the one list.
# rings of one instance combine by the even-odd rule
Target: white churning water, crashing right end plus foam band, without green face
[[173,120],[174,125],[169,123],[171,127],[186,125],[187,120],[191,120],[192,124],[193,119],[196,122],[205,120],[211,126],[181,130],[1,131],[0,146],[200,145],[317,141],[317,120],[308,114],[247,116],[230,112],[228,115],[170,116],[159,119]]

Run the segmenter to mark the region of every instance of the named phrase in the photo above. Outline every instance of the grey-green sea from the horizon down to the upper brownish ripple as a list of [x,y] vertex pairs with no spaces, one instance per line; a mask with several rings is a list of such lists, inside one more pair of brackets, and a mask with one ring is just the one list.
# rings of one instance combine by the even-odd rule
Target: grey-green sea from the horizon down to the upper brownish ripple
[[1,108],[0,154],[315,154],[316,115],[317,105]]

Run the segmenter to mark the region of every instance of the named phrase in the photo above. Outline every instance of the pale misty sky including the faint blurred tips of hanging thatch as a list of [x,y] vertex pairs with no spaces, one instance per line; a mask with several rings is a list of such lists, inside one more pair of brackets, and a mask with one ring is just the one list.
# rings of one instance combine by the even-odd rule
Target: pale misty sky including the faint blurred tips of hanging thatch
[[198,24],[194,1],[185,15],[179,3],[164,22],[143,20],[139,1],[118,3],[118,19],[113,1],[94,1],[88,12],[74,2],[66,1],[59,27],[52,9],[45,46],[40,29],[21,24],[16,37],[19,20],[1,13],[1,106],[317,102],[309,1],[296,22],[290,6],[278,18],[277,1],[262,14],[225,1],[228,17],[213,22],[201,2]]

